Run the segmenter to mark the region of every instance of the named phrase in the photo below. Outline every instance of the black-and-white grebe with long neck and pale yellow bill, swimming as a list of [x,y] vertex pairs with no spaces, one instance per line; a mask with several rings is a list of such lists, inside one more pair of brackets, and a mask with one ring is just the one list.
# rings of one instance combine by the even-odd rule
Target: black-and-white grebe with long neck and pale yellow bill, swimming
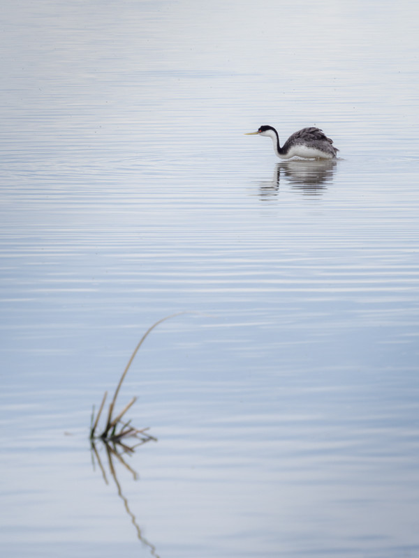
[[250,132],[244,135],[266,135],[270,137],[274,144],[274,151],[281,159],[291,159],[291,157],[302,157],[304,159],[335,159],[339,151],[332,146],[332,140],[327,137],[323,130],[318,128],[302,128],[293,135],[281,147],[277,130],[272,126],[260,126],[257,132]]

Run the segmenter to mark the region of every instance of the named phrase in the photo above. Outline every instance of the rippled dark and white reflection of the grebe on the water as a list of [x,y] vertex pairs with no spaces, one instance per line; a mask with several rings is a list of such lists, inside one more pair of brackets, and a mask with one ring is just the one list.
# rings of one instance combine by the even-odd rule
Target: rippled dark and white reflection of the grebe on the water
[[286,179],[304,195],[319,195],[332,182],[336,160],[295,159],[277,163],[272,180],[260,182],[260,198],[267,199],[279,193],[280,179]]

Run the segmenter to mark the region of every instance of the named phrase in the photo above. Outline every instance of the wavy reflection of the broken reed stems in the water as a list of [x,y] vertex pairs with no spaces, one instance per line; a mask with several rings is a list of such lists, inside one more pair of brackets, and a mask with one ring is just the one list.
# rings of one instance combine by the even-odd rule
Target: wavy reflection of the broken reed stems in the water
[[[122,502],[124,502],[124,508],[126,510],[126,513],[128,513],[129,517],[131,518],[131,523],[135,527],[135,531],[137,531],[138,539],[149,548],[150,554],[152,556],[156,558],[160,558],[156,552],[156,547],[152,545],[152,543],[147,541],[145,536],[142,535],[142,531],[140,529],[140,526],[137,523],[137,520],[135,519],[135,515],[133,514],[131,508],[129,507],[128,499],[124,496],[122,492],[122,487],[117,477],[117,469],[115,468],[115,463],[119,462],[132,474],[134,481],[136,481],[138,479],[138,474],[137,472],[134,471],[134,469],[132,469],[132,467],[128,465],[124,457],[126,457],[126,455],[130,455],[130,454],[132,455],[135,451],[135,447],[141,444],[145,444],[145,442],[149,442],[149,440],[156,440],[156,439],[150,436],[147,439],[142,440],[140,444],[136,444],[135,446],[128,446],[128,444],[125,443],[122,444],[120,442],[112,443],[112,444],[108,442],[101,442],[101,447],[105,448],[106,462],[108,463],[110,476],[112,477],[113,481],[115,482],[115,485],[117,486],[118,496],[122,499]],[[109,485],[108,476],[106,475],[106,467],[105,467],[106,462],[105,465],[103,465],[101,456],[99,455],[98,448],[96,447],[96,443],[94,441],[91,442],[91,460],[94,469],[96,468],[96,463],[97,463],[99,469],[101,469],[103,480],[107,485]]]

